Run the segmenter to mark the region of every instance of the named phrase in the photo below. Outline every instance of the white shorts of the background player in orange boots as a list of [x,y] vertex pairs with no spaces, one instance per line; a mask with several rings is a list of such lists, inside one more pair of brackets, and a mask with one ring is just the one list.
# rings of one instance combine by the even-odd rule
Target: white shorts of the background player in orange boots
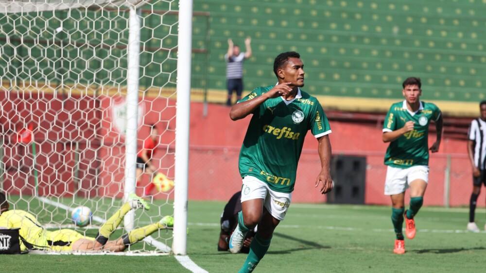
[[416,179],[429,182],[429,166],[418,165],[410,168],[396,168],[388,166],[386,169],[385,195],[405,192],[410,183]]

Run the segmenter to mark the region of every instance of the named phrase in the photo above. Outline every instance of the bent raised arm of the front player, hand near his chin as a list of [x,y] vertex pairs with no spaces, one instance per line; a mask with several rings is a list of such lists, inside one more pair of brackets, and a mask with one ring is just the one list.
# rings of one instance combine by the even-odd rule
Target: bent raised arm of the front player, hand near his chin
[[257,109],[265,100],[269,98],[275,98],[279,96],[285,96],[288,93],[292,92],[292,87],[290,87],[292,82],[284,82],[276,85],[274,88],[270,89],[270,91],[262,94],[261,96],[257,96],[247,101],[243,101],[237,103],[231,107],[229,111],[229,117],[231,120],[239,120],[245,118],[247,115],[251,114],[252,112]]

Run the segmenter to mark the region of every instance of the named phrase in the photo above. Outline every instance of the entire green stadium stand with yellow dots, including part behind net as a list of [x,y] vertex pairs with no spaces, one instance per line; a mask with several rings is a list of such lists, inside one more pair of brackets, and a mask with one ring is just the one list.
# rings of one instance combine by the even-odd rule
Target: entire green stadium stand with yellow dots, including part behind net
[[[169,4],[149,3],[142,8],[142,90],[174,89],[176,15],[164,15],[160,22],[143,12],[144,8],[167,10]],[[254,53],[244,65],[246,91],[272,84],[275,56],[295,50],[306,64],[305,90],[314,95],[395,99],[401,96],[400,83],[406,77],[419,76],[424,99],[477,102],[486,98],[484,0],[194,0],[194,11],[192,86],[196,89],[206,86],[224,92],[227,39],[244,50],[243,40],[251,36]],[[99,20],[96,24],[77,21],[83,12],[106,17],[107,24],[116,22],[119,31],[105,32]],[[69,15],[45,12],[44,19],[36,17],[35,28],[26,29],[28,16],[1,15],[5,28],[0,41],[8,43],[2,50],[16,56],[10,63],[0,59],[1,74],[12,78],[12,71],[24,67],[15,77],[36,80],[42,78],[38,68],[52,70],[54,64],[52,73],[42,72],[52,78],[51,84],[89,86],[90,79],[97,78],[104,79],[104,85],[124,86],[126,71],[111,69],[113,60],[126,63],[128,15],[112,16],[99,8]],[[20,27],[14,29],[12,22]],[[118,35],[126,42],[115,43]],[[90,44],[78,52],[71,45],[85,36]],[[18,46],[20,41],[23,46]],[[198,50],[208,50],[209,55]],[[36,61],[43,56],[44,61]],[[89,69],[78,71],[86,67],[84,63]]]

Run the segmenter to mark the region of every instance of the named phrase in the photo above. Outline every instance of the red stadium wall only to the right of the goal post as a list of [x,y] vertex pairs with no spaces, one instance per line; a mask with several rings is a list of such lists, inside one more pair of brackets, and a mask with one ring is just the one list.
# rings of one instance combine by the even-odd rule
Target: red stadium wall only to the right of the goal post
[[[233,122],[228,117],[228,108],[210,105],[207,117],[202,117],[202,105],[191,105],[191,155],[190,155],[190,199],[226,200],[241,188],[238,175],[238,153],[243,142],[249,117]],[[330,121],[330,141],[333,154],[365,156],[367,160],[365,203],[389,204],[383,195],[386,167],[383,165],[387,145],[382,143],[381,126]],[[297,170],[297,181],[293,193],[294,202],[325,202],[325,196],[314,188],[320,163],[317,142],[311,134],[306,136],[304,151]],[[431,134],[429,143],[433,143]],[[429,185],[424,199],[425,205],[444,205],[444,178],[447,156],[451,157],[450,198],[451,206],[469,204],[472,191],[471,168],[467,158],[466,142],[442,140],[440,151],[431,154]],[[483,191],[484,192],[484,191]],[[484,200],[485,193],[479,200]],[[484,204],[478,204],[483,206]]]

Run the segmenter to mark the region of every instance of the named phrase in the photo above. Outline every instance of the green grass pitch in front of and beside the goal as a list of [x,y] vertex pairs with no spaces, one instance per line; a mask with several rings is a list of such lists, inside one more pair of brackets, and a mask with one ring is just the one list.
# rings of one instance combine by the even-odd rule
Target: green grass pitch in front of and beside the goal
[[[211,273],[237,272],[245,259],[216,250],[223,207],[224,202],[189,203],[188,254]],[[483,227],[484,208],[476,213]],[[400,256],[392,253],[390,215],[391,209],[382,206],[293,204],[255,272],[484,272],[486,233],[464,232],[467,209],[422,208],[417,236],[405,239],[407,253]],[[154,217],[144,213],[140,221]],[[188,272],[173,256],[17,255],[0,260],[5,272]]]

